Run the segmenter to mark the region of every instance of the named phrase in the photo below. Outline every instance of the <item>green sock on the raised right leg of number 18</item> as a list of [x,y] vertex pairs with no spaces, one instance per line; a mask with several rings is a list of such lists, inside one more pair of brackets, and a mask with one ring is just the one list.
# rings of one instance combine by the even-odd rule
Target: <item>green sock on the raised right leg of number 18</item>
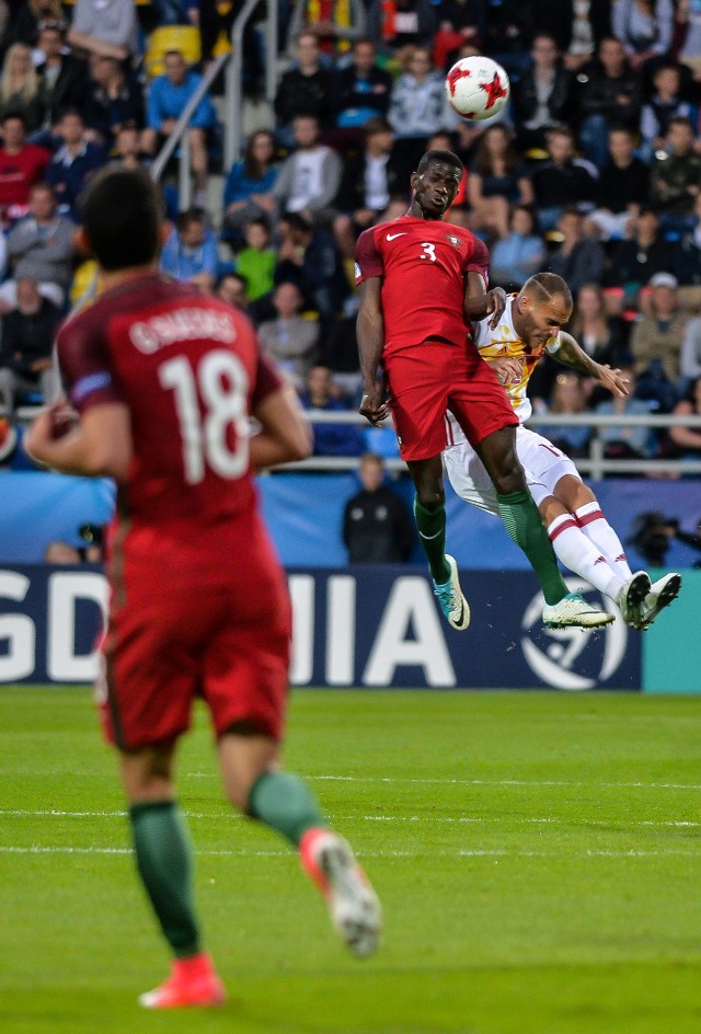
[[249,815],[287,837],[295,847],[308,829],[326,826],[313,793],[291,772],[263,772],[251,788]]

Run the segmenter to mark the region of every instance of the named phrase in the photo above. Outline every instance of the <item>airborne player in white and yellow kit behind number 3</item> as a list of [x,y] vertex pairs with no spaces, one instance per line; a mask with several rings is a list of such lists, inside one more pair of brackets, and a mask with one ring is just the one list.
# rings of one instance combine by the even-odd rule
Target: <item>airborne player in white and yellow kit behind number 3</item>
[[[558,558],[617,604],[627,624],[646,629],[678,595],[680,575],[668,574],[651,584],[645,571],[633,574],[618,535],[572,460],[548,438],[522,426],[531,415],[528,381],[545,353],[594,377],[612,394],[628,394],[620,370],[595,363],[561,330],[571,313],[572,295],[562,277],[538,273],[518,295],[507,298],[496,328],[490,328],[487,320],[475,324],[474,341],[519,418],[518,458]],[[444,463],[461,498],[498,514],[489,474],[450,413],[446,414]]]

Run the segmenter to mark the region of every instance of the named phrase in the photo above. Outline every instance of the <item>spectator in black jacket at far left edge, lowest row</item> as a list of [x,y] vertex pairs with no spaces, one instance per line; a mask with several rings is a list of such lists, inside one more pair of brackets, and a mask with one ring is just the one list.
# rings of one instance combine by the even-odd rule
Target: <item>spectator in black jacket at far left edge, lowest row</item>
[[51,352],[60,319],[34,280],[18,280],[16,308],[3,315],[0,336],[0,403],[11,412],[22,394],[41,392],[45,402],[58,397]]

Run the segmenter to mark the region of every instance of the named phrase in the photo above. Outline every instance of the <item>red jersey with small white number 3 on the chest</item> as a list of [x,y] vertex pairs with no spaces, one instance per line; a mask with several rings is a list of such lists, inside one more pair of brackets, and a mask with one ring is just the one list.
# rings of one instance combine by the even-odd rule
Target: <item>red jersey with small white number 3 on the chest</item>
[[486,245],[469,230],[433,219],[402,216],[370,227],[356,244],[356,284],[382,277],[383,356],[424,341],[464,344],[468,273],[485,282]]

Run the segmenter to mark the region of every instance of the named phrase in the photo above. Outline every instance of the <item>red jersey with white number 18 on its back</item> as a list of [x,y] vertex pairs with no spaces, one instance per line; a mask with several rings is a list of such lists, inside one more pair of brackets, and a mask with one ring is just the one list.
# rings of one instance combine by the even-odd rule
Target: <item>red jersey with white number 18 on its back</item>
[[70,317],[58,356],[79,412],[113,401],[129,409],[134,459],[118,520],[156,532],[149,552],[166,540],[219,555],[230,549],[227,529],[255,509],[249,414],[280,384],[245,317],[147,275]]

